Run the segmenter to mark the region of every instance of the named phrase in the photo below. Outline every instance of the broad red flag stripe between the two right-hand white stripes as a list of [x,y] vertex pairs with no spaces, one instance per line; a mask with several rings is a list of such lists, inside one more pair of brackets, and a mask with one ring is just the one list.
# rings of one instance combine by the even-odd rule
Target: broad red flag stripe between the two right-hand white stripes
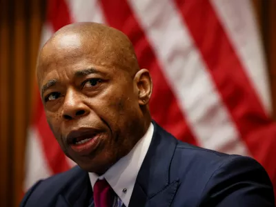
[[[276,157],[276,151],[272,150],[276,147],[275,126],[266,116],[210,1],[175,2],[242,139],[253,157],[272,175],[276,166],[271,159]],[[263,137],[264,134],[267,136]]]

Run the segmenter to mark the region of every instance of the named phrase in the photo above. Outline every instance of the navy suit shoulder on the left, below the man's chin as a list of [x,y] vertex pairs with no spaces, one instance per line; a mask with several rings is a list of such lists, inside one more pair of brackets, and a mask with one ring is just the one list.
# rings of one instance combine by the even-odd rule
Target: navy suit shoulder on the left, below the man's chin
[[34,206],[37,201],[50,202],[60,193],[69,188],[76,188],[85,179],[87,173],[81,170],[79,166],[61,172],[47,179],[41,179],[34,184],[23,197],[21,206]]

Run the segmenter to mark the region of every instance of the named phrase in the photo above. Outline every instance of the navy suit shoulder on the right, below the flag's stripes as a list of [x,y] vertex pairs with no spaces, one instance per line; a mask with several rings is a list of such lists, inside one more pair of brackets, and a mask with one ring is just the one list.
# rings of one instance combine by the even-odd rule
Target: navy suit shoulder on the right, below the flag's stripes
[[[161,137],[166,146],[173,146],[173,155],[170,164],[172,177],[197,177],[202,183],[208,181],[213,175],[221,170],[227,170],[227,174],[242,173],[242,171],[257,170],[264,173],[266,170],[255,159],[241,155],[228,155],[223,152],[209,150],[193,146],[180,141],[169,132],[155,124],[156,133]],[[172,148],[170,148],[172,149]],[[268,179],[269,180],[269,179]]]

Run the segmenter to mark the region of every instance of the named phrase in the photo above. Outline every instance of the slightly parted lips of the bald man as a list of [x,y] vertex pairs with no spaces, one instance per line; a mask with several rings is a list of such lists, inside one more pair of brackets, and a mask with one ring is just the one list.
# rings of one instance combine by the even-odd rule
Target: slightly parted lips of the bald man
[[[97,148],[101,134],[102,132],[93,128],[79,128],[77,130],[72,130],[66,137],[66,141],[70,148],[79,155],[88,155]],[[84,139],[89,140],[82,144],[75,143],[76,141],[82,141]]]

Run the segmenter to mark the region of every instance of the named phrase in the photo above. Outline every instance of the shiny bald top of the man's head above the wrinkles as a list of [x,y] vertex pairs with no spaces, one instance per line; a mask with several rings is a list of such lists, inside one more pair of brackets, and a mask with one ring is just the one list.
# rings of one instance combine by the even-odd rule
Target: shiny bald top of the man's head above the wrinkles
[[37,78],[47,68],[43,63],[48,63],[48,59],[66,60],[83,55],[101,61],[102,65],[126,70],[132,76],[139,70],[135,50],[123,32],[101,23],[82,22],[64,26],[44,44],[37,63]]

